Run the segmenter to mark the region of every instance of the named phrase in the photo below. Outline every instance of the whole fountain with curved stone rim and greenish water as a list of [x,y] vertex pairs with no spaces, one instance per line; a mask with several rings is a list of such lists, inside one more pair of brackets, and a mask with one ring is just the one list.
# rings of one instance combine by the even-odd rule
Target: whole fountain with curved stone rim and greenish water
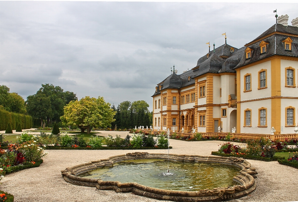
[[[203,165],[217,171],[204,168]],[[174,169],[173,175],[160,175],[160,170],[165,169],[165,166],[168,170]],[[105,174],[117,169],[121,175],[117,172]],[[133,171],[135,173],[131,173]],[[203,173],[200,173],[201,171]],[[158,200],[205,202],[232,200],[248,195],[256,188],[254,178],[257,174],[255,168],[242,158],[175,155],[169,152],[168,154],[127,153],[66,168],[61,173],[66,182],[96,187],[99,190],[132,192]],[[217,176],[213,180],[214,183],[209,184],[214,176]],[[226,179],[231,182],[225,183]],[[164,183],[156,185],[157,181]]]

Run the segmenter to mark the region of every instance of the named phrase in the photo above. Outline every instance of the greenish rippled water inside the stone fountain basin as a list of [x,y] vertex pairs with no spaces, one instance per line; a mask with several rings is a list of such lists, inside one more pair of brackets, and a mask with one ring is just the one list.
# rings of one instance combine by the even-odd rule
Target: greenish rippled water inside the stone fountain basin
[[199,191],[217,187],[234,186],[233,177],[241,168],[219,163],[193,163],[169,161],[171,176],[167,173],[168,160],[127,160],[102,167],[79,177],[97,178],[103,181],[137,182],[144,186],[177,191]]

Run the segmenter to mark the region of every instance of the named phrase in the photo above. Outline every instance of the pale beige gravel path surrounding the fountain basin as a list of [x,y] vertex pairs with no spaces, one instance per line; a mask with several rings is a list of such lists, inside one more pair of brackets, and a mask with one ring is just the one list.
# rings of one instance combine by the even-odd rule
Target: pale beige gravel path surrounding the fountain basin
[[[110,132],[109,132],[110,133]],[[118,132],[124,137],[127,132]],[[104,135],[104,134],[103,134]],[[114,135],[113,135],[114,136]],[[172,154],[210,155],[218,150],[223,141],[186,142],[170,140]],[[105,159],[113,155],[126,154],[136,150],[47,150],[44,163],[38,168],[25,169],[7,175],[0,189],[15,196],[15,202],[153,202],[132,193],[102,191],[94,187],[76,186],[67,183],[61,170],[91,160]],[[167,153],[167,150],[137,150],[151,153]],[[249,196],[231,202],[282,202],[298,200],[298,169],[278,164],[277,161],[264,162],[248,160],[259,173],[257,188]]]

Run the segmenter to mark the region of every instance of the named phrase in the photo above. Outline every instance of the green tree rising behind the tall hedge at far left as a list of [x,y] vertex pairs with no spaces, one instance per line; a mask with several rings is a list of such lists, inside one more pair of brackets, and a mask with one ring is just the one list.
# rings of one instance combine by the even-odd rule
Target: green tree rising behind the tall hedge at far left
[[25,100],[17,93],[10,93],[9,91],[10,89],[7,86],[0,86],[0,105],[7,111],[25,114]]

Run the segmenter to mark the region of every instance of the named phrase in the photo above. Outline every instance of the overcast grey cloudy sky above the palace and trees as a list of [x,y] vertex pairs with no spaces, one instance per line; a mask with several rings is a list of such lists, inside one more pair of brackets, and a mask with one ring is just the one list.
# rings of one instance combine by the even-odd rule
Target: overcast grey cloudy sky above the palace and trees
[[0,1],[0,85],[25,100],[52,83],[81,99],[116,106],[145,100],[155,86],[196,66],[210,41],[241,48],[298,17],[297,3]]

